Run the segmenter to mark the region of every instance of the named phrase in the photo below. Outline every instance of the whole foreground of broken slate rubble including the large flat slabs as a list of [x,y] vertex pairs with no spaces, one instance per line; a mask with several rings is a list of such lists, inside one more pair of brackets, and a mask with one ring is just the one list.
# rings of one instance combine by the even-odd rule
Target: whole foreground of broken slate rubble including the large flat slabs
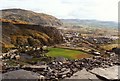
[[[7,74],[4,74],[7,78],[9,77],[19,77],[22,75],[22,79],[31,79],[29,73],[39,73],[37,76],[42,77],[44,79],[50,80],[116,80],[118,78],[118,67],[117,58],[103,58],[103,57],[93,57],[93,58],[84,58],[78,60],[69,60],[62,57],[56,58],[55,60],[47,63],[36,64],[36,65],[24,65],[16,67],[8,67],[6,68]],[[116,66],[115,66],[116,65]],[[12,70],[11,70],[12,69]],[[17,72],[20,71],[18,69],[24,69],[22,73]],[[27,71],[26,71],[27,70]],[[11,71],[11,72],[9,72]],[[32,72],[31,72],[32,71]],[[16,73],[17,72],[17,73]],[[20,73],[20,74],[19,74]],[[24,75],[23,74],[27,74]],[[12,75],[11,75],[12,74]],[[33,73],[34,74],[34,73]],[[19,75],[19,76],[18,76]],[[42,75],[42,76],[41,76]],[[27,77],[26,77],[27,76]],[[36,76],[34,76],[36,77]]]

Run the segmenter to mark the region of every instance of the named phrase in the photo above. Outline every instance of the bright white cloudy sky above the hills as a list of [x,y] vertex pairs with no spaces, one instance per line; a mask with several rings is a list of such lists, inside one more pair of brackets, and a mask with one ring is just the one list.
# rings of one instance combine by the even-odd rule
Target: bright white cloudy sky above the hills
[[118,21],[120,0],[0,0],[0,10],[21,8],[59,19]]

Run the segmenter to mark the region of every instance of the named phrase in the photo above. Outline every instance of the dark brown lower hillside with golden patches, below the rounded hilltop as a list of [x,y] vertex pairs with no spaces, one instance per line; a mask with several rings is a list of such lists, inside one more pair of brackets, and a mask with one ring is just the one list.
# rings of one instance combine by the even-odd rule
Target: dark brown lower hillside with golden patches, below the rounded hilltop
[[2,23],[3,46],[39,46],[62,42],[62,36],[54,27],[40,25]]

